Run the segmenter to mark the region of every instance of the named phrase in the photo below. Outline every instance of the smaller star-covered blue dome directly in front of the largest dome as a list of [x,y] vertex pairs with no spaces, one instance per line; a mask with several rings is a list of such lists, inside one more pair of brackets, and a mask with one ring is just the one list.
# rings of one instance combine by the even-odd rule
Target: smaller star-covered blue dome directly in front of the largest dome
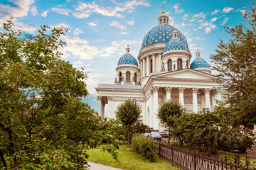
[[188,52],[188,47],[178,38],[171,39],[166,46],[164,47],[164,52],[168,52],[171,50],[185,50]]

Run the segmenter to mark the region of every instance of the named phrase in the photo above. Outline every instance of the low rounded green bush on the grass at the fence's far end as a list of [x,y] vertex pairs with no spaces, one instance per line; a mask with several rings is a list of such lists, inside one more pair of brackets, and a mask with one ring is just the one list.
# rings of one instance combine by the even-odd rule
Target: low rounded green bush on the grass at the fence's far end
[[132,148],[138,152],[145,159],[149,159],[150,162],[156,162],[158,156],[156,154],[156,141],[151,137],[144,135],[134,135],[132,137]]

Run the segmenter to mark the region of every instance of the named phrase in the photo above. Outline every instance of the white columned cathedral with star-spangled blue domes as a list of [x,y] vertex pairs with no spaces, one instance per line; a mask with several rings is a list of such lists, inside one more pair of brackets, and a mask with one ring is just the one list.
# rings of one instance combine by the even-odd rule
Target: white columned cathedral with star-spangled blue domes
[[142,106],[143,123],[164,130],[156,113],[166,101],[181,103],[187,113],[198,113],[203,108],[212,111],[216,100],[222,100],[221,86],[201,52],[196,51],[192,62],[191,57],[185,36],[169,25],[163,11],[158,26],[146,33],[137,59],[127,46],[117,62],[114,84],[98,84],[95,88],[101,116],[105,118],[107,105],[107,118],[115,118],[117,106],[134,98]]

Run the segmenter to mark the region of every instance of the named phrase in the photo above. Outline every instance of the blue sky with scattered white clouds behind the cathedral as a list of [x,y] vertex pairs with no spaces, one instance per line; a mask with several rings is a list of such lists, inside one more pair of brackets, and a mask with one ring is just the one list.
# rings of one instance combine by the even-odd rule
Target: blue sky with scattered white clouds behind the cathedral
[[64,26],[67,46],[61,48],[63,60],[88,73],[83,98],[98,111],[95,87],[114,84],[119,58],[127,45],[137,58],[146,33],[158,25],[164,11],[169,24],[185,35],[195,59],[196,48],[209,64],[218,42],[230,39],[225,27],[245,24],[243,15],[253,0],[0,0],[0,30],[11,16],[24,35],[36,34],[40,26]]

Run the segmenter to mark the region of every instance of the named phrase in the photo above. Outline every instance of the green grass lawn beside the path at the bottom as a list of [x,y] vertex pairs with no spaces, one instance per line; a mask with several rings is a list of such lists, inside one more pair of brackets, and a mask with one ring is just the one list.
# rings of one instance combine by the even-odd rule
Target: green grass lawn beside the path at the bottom
[[177,167],[166,162],[164,159],[159,159],[158,162],[151,163],[145,160],[137,152],[132,151],[132,147],[127,148],[126,145],[122,145],[118,151],[119,162],[116,162],[108,152],[103,152],[102,147],[96,149],[90,149],[87,152],[90,157],[87,159],[89,162],[95,162],[99,164],[105,164],[108,166],[116,167],[126,170],[178,170]]

